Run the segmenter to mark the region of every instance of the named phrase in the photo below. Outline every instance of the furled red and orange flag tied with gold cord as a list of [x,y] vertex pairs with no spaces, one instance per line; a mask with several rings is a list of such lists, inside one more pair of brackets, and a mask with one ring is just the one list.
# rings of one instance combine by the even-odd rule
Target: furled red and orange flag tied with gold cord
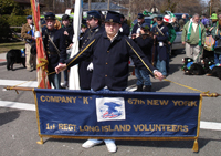
[[40,20],[40,4],[39,0],[31,0],[32,17],[35,25],[36,37],[36,77],[38,87],[51,89],[48,77],[48,58],[43,48],[41,20]]

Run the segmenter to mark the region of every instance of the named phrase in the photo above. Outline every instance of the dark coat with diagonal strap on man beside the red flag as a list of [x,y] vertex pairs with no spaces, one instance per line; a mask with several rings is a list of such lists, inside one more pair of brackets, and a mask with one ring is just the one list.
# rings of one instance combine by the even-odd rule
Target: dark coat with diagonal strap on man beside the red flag
[[[56,48],[59,49],[60,55],[56,49],[50,42],[49,35],[53,40]],[[54,29],[53,31],[49,31],[48,29],[45,29],[42,32],[42,39],[43,39],[44,49],[45,49],[48,60],[49,60],[48,70],[51,73],[51,72],[54,72],[54,69],[57,66],[59,63],[64,63],[64,60],[66,60],[65,38],[62,31],[60,30]]]

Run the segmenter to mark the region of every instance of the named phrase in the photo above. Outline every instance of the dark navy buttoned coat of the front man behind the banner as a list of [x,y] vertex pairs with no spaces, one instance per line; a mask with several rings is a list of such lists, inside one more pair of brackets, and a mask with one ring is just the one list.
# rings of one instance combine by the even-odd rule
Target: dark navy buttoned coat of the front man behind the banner
[[85,51],[80,52],[78,56],[76,54],[65,62],[67,66],[72,66],[93,55],[94,71],[91,87],[94,91],[98,91],[105,86],[110,91],[124,91],[127,87],[129,56],[136,66],[146,69],[127,41],[149,66],[150,71],[154,71],[154,66],[149,63],[139,46],[122,33],[118,33],[113,42],[107,38],[106,32],[95,35],[88,42],[87,45],[91,45]]

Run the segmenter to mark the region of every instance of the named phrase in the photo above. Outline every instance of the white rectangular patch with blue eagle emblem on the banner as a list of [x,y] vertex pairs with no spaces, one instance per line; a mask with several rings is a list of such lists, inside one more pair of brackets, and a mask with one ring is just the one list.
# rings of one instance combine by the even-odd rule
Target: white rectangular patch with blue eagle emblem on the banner
[[123,121],[125,115],[125,101],[123,97],[96,98],[97,122]]

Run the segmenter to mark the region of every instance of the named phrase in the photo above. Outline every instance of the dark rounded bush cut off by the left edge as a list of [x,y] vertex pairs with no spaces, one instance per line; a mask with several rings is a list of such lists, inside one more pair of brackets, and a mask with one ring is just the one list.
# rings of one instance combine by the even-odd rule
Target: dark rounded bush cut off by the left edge
[[0,15],[0,42],[9,40],[9,38],[11,38],[12,34],[6,17]]

